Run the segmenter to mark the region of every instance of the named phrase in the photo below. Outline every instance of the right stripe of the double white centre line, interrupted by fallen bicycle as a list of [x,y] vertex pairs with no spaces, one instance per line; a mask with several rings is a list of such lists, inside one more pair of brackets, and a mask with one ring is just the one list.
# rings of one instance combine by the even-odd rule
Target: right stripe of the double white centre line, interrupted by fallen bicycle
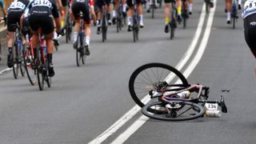
[[[194,70],[195,66],[198,65],[198,62],[202,58],[202,54],[206,50],[206,45],[207,45],[207,42],[208,42],[209,37],[210,37],[210,30],[211,30],[211,26],[212,26],[213,19],[214,19],[215,8],[216,8],[216,0],[214,0],[214,8],[210,10],[209,18],[208,18],[207,24],[206,24],[206,30],[205,30],[205,33],[203,35],[202,42],[201,42],[201,44],[199,46],[198,52],[194,56],[193,61],[190,62],[190,66],[188,66],[188,68],[184,72],[184,76],[186,78],[189,77],[191,72]],[[112,144],[126,142],[126,140],[128,138],[130,138],[130,136],[132,134],[134,134],[136,132],[136,130],[138,130],[148,119],[149,118],[147,118],[146,116],[142,115],[129,128],[127,128],[122,134],[120,134],[118,136],[118,138],[114,139]]]

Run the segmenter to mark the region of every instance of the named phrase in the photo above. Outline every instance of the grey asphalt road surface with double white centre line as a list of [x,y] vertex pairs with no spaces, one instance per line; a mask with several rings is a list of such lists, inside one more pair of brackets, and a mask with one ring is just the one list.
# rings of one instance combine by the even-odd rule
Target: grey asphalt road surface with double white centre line
[[[54,53],[52,86],[38,90],[26,77],[0,68],[0,143],[256,143],[254,58],[243,37],[242,18],[226,24],[224,2],[209,14],[195,1],[186,30],[165,34],[163,9],[134,43],[126,27],[110,26],[106,42],[92,28],[90,56],[77,67],[72,44]],[[210,99],[225,94],[227,114],[187,122],[142,116],[130,98],[132,72],[148,62],[177,67],[190,83],[210,86]]]

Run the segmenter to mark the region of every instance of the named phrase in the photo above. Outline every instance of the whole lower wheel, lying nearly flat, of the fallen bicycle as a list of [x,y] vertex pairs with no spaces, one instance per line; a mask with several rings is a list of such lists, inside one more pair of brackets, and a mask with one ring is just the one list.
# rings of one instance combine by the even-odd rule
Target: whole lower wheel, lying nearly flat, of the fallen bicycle
[[[148,103],[146,106],[142,107],[142,114],[149,118],[163,121],[187,121],[200,118],[203,114],[205,114],[205,109],[201,105],[193,102],[179,103],[176,105],[178,107],[175,109],[168,108],[164,105],[166,104],[163,104],[163,102]],[[185,108],[188,111],[184,110]],[[171,114],[168,114],[166,109],[170,110]],[[157,112],[152,112],[152,110],[156,110]],[[162,113],[159,113],[160,110]]]

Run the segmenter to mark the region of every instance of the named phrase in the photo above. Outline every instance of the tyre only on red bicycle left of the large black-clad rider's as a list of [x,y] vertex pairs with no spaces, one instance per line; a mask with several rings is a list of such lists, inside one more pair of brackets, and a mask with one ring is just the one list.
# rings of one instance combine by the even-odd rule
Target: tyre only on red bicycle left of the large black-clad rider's
[[[26,54],[26,53],[28,53],[28,54]],[[36,82],[37,82],[37,74],[36,74],[36,70],[34,70],[34,81],[32,80],[32,78],[31,78],[31,76],[30,76],[30,72],[29,72],[29,68],[27,67],[27,63],[26,63],[26,55],[31,55],[31,51],[29,50],[29,49],[25,49],[24,51],[23,51],[23,59],[24,59],[24,66],[25,66],[25,69],[26,69],[26,75],[27,75],[27,78],[29,79],[29,81],[30,81],[30,84],[32,85],[32,86],[34,86],[35,84],[36,84]],[[32,61],[34,62],[34,57],[32,57],[32,55],[31,55],[31,58],[32,58]],[[33,64],[32,64],[33,65]],[[31,67],[33,67],[31,65]],[[32,69],[32,68],[31,68]],[[33,69],[32,69],[33,70]]]

